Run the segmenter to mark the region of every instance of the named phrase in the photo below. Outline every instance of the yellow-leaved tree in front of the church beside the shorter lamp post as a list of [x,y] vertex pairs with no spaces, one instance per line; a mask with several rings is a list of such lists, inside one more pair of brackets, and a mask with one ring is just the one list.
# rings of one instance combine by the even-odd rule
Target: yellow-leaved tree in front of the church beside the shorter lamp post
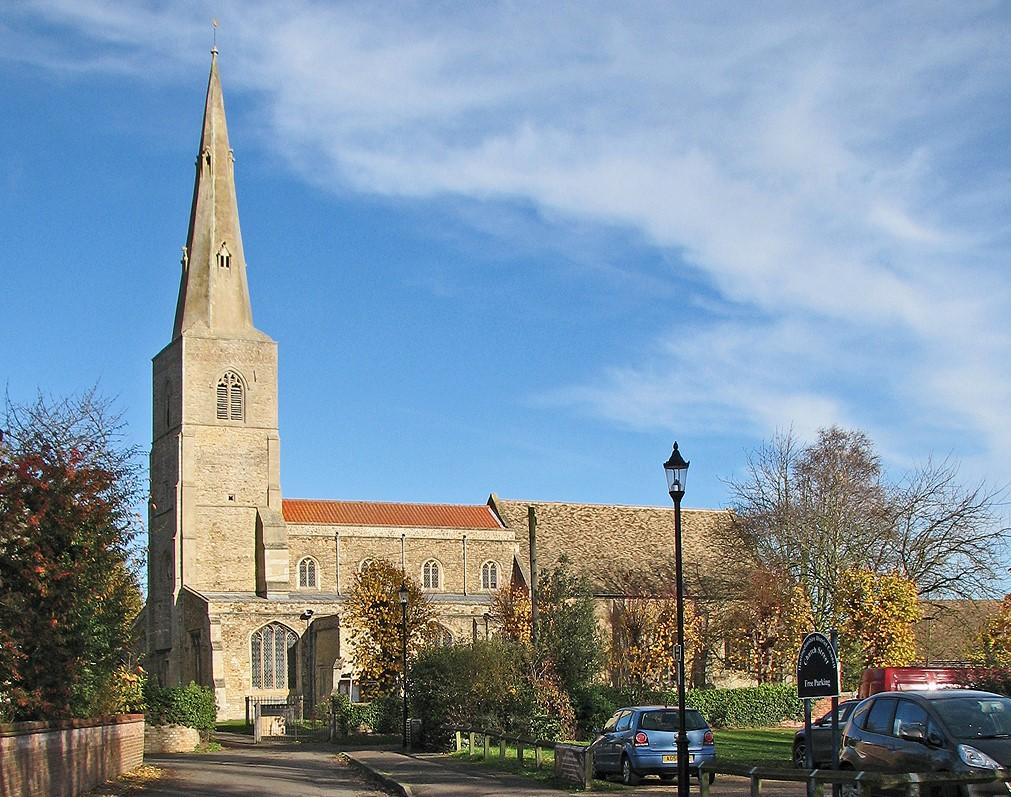
[[365,696],[389,694],[403,673],[400,586],[407,588],[407,655],[432,638],[435,612],[421,585],[390,561],[375,559],[355,577],[343,618]]

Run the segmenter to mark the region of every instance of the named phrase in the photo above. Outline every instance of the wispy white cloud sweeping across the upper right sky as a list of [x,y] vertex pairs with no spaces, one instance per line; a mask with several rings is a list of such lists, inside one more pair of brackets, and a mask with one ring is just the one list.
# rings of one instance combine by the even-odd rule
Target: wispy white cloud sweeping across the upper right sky
[[[701,429],[838,422],[897,453],[929,433],[1011,456],[1005,5],[219,14],[229,86],[256,94],[264,140],[305,179],[635,231],[733,308],[555,403],[652,427],[675,420],[676,391]],[[54,0],[21,21],[91,47],[35,29],[32,55],[16,27],[2,35],[8,57],[51,68],[174,75],[209,38],[205,16]]]

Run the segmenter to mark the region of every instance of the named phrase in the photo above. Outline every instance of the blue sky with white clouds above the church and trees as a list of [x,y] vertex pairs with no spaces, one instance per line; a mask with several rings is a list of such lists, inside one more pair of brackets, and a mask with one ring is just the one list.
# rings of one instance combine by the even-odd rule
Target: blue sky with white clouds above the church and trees
[[150,442],[209,66],[292,498],[685,506],[775,430],[1011,459],[1011,6],[102,3],[0,18],[0,378]]

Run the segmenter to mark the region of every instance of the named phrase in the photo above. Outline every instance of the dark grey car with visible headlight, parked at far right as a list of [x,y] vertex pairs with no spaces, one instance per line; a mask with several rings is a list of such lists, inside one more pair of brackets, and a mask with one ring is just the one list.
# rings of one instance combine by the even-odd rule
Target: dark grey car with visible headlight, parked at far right
[[[968,689],[880,692],[850,715],[841,760],[843,769],[879,772],[1008,770],[1011,698]],[[1011,786],[972,785],[968,793],[1007,795]]]

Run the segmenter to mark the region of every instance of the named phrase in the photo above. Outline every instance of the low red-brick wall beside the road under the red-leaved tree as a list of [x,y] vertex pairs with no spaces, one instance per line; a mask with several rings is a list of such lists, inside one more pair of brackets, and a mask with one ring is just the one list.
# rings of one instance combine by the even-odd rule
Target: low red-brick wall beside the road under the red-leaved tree
[[144,714],[0,725],[3,797],[77,797],[144,764]]

